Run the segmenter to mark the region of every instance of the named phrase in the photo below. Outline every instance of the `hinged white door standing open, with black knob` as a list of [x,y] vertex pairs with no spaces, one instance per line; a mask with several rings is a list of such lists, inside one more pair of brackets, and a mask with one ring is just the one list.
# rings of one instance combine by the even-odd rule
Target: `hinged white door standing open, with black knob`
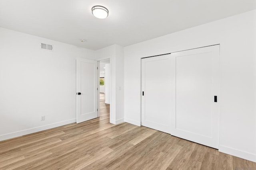
[[98,116],[98,71],[97,61],[76,60],[76,123],[81,123]]

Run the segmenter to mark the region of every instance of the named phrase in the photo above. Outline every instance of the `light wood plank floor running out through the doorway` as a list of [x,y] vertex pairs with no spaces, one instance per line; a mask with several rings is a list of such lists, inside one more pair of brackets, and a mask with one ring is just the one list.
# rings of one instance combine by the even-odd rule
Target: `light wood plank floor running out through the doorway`
[[256,163],[129,123],[100,118],[0,142],[0,169],[256,170]]

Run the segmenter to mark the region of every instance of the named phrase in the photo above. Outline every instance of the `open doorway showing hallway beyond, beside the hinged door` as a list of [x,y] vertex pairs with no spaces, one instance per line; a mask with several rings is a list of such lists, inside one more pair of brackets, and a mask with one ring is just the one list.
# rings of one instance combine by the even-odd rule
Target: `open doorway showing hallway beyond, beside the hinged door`
[[100,120],[110,119],[110,59],[100,61],[100,95],[99,95],[99,117]]

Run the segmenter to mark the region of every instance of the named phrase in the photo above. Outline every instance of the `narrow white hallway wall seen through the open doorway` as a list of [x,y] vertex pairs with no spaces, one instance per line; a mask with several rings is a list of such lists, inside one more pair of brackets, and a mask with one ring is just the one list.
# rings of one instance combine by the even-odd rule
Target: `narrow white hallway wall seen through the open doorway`
[[111,81],[111,74],[110,74],[110,64],[105,64],[105,103],[110,104],[110,81]]

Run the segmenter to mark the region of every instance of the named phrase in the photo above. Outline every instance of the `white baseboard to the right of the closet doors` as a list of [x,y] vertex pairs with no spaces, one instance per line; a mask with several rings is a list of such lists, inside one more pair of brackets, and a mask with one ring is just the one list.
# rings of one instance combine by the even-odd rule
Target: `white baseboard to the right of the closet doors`
[[256,154],[250,152],[244,152],[242,150],[226,147],[223,145],[219,146],[219,151],[233,156],[237,156],[239,158],[247,159],[252,162],[256,162]]

